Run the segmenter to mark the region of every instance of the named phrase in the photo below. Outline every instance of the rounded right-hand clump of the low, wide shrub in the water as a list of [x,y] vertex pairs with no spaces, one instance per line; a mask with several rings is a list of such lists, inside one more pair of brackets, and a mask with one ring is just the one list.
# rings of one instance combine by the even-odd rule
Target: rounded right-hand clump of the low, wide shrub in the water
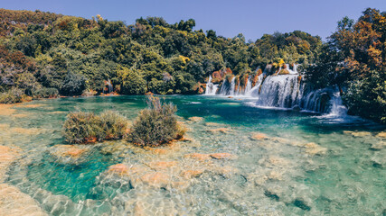
[[105,111],[99,115],[105,139],[121,139],[127,134],[128,121],[116,111]]

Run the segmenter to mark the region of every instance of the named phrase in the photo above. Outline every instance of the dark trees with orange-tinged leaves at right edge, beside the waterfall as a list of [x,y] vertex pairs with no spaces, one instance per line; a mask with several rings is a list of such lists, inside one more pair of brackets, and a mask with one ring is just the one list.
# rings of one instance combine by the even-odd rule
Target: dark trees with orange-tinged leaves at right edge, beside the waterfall
[[338,22],[306,80],[316,87],[338,85],[349,112],[375,121],[386,116],[386,14],[367,8],[356,23]]

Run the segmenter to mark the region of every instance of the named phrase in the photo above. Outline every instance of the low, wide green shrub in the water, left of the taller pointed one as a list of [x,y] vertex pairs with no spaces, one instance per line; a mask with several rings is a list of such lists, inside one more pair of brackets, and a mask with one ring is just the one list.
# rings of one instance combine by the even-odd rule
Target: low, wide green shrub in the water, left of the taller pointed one
[[127,134],[128,121],[116,111],[70,112],[63,125],[63,135],[71,143],[92,143],[105,139],[122,139]]

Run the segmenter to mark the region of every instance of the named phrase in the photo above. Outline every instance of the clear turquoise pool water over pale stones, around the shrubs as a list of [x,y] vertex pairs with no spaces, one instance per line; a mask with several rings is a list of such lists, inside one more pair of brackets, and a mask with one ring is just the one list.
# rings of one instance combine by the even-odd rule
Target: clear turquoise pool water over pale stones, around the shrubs
[[[123,140],[80,145],[85,150],[80,157],[58,155],[58,145],[66,144],[61,125],[68,112],[115,109],[134,121],[146,105],[143,96],[36,101],[28,103],[36,107],[14,108],[14,114],[24,115],[0,115],[9,127],[0,132],[0,145],[23,149],[5,182],[31,195],[50,215],[386,214],[386,148],[380,144],[385,140],[377,137],[384,126],[357,118],[260,109],[245,98],[161,97],[177,106],[193,139],[165,147],[169,153],[162,155]],[[202,120],[189,120],[193,116]],[[219,128],[225,130],[216,131]],[[255,133],[267,138],[253,139]],[[185,157],[219,152],[234,158],[202,162]],[[156,161],[178,165],[151,166]],[[144,170],[111,175],[108,167],[115,164]],[[203,173],[185,179],[180,174],[186,170]],[[170,176],[169,183],[137,184],[136,176],[155,171]],[[180,183],[184,187],[176,186]]]

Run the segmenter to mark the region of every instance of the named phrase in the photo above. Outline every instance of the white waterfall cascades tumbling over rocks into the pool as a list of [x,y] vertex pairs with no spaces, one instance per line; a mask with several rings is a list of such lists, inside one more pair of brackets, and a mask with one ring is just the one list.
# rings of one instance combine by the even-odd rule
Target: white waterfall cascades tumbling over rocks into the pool
[[264,72],[258,76],[254,86],[252,86],[251,82],[252,76],[249,76],[247,85],[243,90],[240,87],[242,81],[239,81],[238,88],[235,89],[235,76],[232,77],[231,82],[228,79],[224,79],[218,93],[216,93],[217,86],[214,87],[212,76],[210,76],[205,94],[248,96],[256,98],[257,101],[254,102],[254,105],[259,107],[323,112],[334,116],[345,115],[347,109],[343,105],[337,88],[311,89],[306,83],[300,81],[297,66],[294,65],[290,69],[289,65],[287,65],[286,69],[289,72],[287,75],[267,76],[267,73]]

